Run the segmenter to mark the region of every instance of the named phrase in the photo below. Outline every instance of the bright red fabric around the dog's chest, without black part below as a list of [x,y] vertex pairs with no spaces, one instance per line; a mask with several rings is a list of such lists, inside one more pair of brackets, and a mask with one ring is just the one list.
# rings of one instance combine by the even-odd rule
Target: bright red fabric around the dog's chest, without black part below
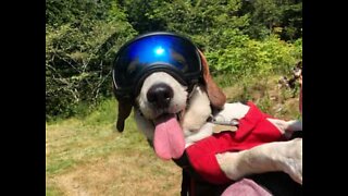
[[261,112],[252,102],[248,113],[239,120],[236,132],[221,132],[213,134],[195,145],[186,148],[192,168],[202,179],[213,184],[232,182],[220,169],[216,154],[225,151],[240,151],[254,146],[281,140],[282,134],[266,118],[272,118]]

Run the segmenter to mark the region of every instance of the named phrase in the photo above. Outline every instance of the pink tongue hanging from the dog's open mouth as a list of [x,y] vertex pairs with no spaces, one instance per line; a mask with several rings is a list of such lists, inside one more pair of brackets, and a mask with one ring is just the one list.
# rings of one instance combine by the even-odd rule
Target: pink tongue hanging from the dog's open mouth
[[157,156],[164,160],[177,159],[184,154],[184,133],[174,114],[157,120],[153,146]]

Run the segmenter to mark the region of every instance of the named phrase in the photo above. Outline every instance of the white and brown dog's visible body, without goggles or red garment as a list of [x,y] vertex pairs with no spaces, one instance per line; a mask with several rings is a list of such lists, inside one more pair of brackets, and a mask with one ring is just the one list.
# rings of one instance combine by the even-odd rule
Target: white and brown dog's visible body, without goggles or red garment
[[[119,99],[117,130],[123,131],[134,108],[138,130],[157,156],[164,160],[179,159],[185,150],[222,130],[238,134],[238,128],[231,128],[235,127],[233,122],[243,121],[253,107],[243,102],[227,103],[223,90],[210,75],[207,59],[200,51],[199,56],[203,82],[189,87],[165,71],[147,75],[133,102]],[[300,121],[274,118],[265,121],[284,138],[302,130]],[[215,154],[214,159],[232,181],[250,174],[283,171],[302,184],[302,138],[264,142],[244,150]]]

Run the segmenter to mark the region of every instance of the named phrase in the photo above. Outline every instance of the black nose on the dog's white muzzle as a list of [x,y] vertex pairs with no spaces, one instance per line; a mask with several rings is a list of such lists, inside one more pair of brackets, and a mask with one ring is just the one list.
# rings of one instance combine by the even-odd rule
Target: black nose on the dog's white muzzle
[[166,108],[174,96],[174,91],[169,85],[159,83],[151,86],[146,96],[148,101],[152,105],[160,108]]

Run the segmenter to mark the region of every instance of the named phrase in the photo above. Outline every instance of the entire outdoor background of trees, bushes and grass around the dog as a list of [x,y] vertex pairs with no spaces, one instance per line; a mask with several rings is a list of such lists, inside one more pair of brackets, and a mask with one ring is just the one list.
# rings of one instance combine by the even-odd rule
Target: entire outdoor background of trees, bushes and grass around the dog
[[47,195],[178,195],[181,172],[159,160],[128,119],[114,132],[111,68],[138,34],[169,30],[203,50],[229,101],[299,118],[301,0],[46,0]]

